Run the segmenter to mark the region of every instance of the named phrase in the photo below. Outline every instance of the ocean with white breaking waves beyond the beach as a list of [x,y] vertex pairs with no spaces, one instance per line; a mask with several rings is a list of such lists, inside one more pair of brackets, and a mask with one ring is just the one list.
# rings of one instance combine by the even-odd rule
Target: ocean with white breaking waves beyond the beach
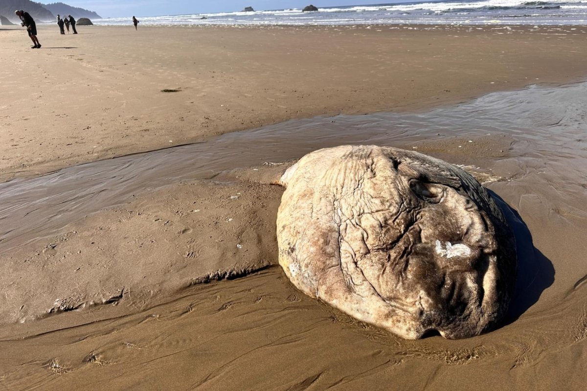
[[[587,3],[549,0],[402,2],[185,15],[140,16],[146,25],[576,25],[587,22]],[[127,25],[127,18],[95,19],[96,25]]]

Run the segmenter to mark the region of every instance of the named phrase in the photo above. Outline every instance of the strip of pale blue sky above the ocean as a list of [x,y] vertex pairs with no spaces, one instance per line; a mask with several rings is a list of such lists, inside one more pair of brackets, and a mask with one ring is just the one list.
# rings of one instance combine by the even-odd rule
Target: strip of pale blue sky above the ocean
[[[36,0],[38,1],[38,0]],[[43,0],[43,3],[52,3],[58,0]],[[207,12],[241,11],[245,6],[252,6],[255,10],[303,8],[308,4],[321,6],[333,5],[361,5],[383,4],[398,2],[398,0],[59,0],[65,4],[96,11],[103,18],[117,18],[122,16],[155,16],[202,14]],[[407,0],[400,0],[407,1]]]

